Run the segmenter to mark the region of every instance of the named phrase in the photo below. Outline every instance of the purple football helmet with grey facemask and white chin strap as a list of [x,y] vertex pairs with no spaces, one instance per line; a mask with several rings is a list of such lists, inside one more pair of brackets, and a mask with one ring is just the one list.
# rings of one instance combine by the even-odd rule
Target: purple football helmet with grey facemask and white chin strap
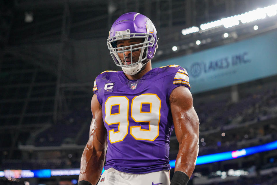
[[[145,39],[144,42],[139,44],[117,47],[116,43],[118,40],[131,38]],[[109,38],[107,39],[107,45],[115,64],[121,66],[124,73],[135,75],[154,57],[156,49],[158,48],[157,41],[157,31],[152,21],[140,13],[129,12],[121,15],[113,23],[109,33]],[[133,61],[132,52],[138,49],[141,49],[139,60]],[[124,65],[121,62],[118,53],[124,53],[126,51],[130,51],[131,53],[131,63],[127,64],[125,55],[123,54],[126,64]],[[145,62],[142,62],[144,60]]]

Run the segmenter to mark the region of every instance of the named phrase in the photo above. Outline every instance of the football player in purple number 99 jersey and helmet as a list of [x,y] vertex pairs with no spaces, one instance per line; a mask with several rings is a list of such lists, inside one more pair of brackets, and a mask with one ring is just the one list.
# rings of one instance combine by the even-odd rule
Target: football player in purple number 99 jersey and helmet
[[[104,71],[94,81],[78,185],[99,179],[99,185],[188,183],[199,150],[199,119],[187,71],[178,65],[151,68],[157,41],[156,28],[142,14],[129,12],[113,23],[107,44],[122,71]],[[179,151],[170,182],[174,128]]]

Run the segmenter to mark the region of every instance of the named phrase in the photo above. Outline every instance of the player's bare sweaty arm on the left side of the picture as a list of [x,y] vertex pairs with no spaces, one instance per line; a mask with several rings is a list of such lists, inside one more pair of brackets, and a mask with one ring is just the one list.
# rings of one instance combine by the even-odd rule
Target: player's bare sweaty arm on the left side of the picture
[[89,140],[81,158],[81,170],[79,181],[85,180],[95,185],[101,175],[107,148],[107,131],[102,118],[102,107],[97,96],[91,100],[91,112],[93,118],[89,129]]

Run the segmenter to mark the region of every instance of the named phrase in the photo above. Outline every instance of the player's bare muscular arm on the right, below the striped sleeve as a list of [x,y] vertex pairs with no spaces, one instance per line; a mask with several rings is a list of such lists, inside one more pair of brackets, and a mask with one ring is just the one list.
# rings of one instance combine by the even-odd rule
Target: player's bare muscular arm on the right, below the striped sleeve
[[193,107],[192,95],[186,87],[175,88],[169,100],[179,142],[175,171],[182,171],[190,177],[199,149],[199,119]]

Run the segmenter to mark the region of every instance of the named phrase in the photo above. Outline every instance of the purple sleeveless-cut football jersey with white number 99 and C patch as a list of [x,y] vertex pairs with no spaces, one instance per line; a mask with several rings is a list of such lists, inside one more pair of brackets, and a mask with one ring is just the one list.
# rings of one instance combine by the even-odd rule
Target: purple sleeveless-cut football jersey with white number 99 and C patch
[[190,89],[187,71],[177,65],[151,69],[138,80],[129,80],[122,71],[104,71],[96,77],[93,92],[108,132],[104,169],[126,173],[171,169],[169,96],[178,86]]

